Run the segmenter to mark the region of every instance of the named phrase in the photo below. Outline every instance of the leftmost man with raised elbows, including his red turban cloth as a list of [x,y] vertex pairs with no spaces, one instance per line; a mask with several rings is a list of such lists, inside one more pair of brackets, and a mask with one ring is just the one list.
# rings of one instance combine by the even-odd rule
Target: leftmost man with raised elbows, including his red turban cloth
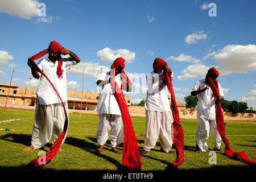
[[[38,64],[34,62],[34,60],[47,53],[47,58],[40,59]],[[62,58],[61,54],[69,56]],[[43,147],[49,142],[51,136],[53,145],[51,150],[47,152],[47,156],[50,153],[53,156],[52,148],[64,151],[59,147],[63,144],[65,137],[67,137],[68,128],[65,69],[69,65],[75,65],[79,62],[80,59],[75,53],[60,46],[55,41],[49,44],[48,49],[28,58],[27,64],[31,68],[31,73],[35,78],[40,78],[40,82],[36,89],[36,112],[31,145],[24,148],[23,151],[31,151]],[[64,130],[65,132],[63,132]],[[63,135],[61,139],[59,139],[60,135]],[[56,142],[57,140],[58,142]],[[58,147],[55,147],[55,143],[58,143]],[[48,158],[46,160],[49,161],[51,159]],[[36,160],[31,164],[38,166]]]

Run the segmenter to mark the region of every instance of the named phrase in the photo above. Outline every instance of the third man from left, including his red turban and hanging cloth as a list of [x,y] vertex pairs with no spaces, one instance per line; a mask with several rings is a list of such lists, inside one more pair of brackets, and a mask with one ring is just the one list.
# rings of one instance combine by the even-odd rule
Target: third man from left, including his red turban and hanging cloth
[[[146,131],[141,154],[147,154],[155,147],[159,137],[160,151],[173,153],[170,149],[174,143],[177,159],[172,166],[179,167],[184,161],[184,136],[171,81],[174,74],[166,61],[159,57],[155,59],[153,69],[153,72],[146,75],[148,85],[145,101]],[[172,114],[168,92],[171,93]]]

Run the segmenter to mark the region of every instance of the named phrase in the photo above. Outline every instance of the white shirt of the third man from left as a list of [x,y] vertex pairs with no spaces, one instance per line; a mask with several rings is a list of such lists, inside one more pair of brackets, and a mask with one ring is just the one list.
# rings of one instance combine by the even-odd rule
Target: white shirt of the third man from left
[[[174,77],[172,73],[171,77]],[[151,111],[169,111],[170,102],[168,99],[169,90],[163,83],[163,72],[151,72],[146,75],[147,80],[147,97],[145,101],[145,109]]]

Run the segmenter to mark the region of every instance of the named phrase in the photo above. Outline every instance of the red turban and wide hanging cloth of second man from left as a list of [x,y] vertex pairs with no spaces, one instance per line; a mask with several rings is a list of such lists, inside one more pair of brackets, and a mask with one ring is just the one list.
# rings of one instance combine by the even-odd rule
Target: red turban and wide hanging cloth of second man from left
[[[115,69],[115,73],[117,73],[116,68],[121,68],[121,77],[125,78],[131,84],[131,81],[126,76],[125,71],[123,71],[123,68],[125,68],[124,62],[125,60],[122,57],[118,57],[115,59],[111,68]],[[123,97],[122,90],[119,89],[117,82],[114,81],[114,78],[110,79],[110,84],[112,86],[112,91],[114,93],[115,100],[117,100],[123,120],[123,165],[127,166],[130,170],[141,170],[141,155],[139,154],[137,138],[133,128],[133,123],[131,122],[131,116],[129,114],[125,97]]]

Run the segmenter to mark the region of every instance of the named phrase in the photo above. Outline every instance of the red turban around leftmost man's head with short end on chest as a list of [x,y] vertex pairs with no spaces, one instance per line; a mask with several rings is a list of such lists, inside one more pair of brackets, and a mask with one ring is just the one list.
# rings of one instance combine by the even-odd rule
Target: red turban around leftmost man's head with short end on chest
[[[52,51],[52,52],[54,52],[54,51],[61,51],[63,48],[64,47],[60,46],[60,44],[57,43],[56,41],[52,41],[49,44],[48,49],[45,49],[44,51],[41,51],[41,52],[37,53],[36,55],[31,56],[30,58],[34,61],[34,60],[39,59],[40,57],[46,55],[47,53],[49,53],[49,51]],[[62,61],[62,59],[60,59],[58,61],[58,66],[57,66],[57,75],[59,77],[62,77],[62,74],[63,74],[63,69],[61,69],[62,63],[63,63],[63,61]]]

